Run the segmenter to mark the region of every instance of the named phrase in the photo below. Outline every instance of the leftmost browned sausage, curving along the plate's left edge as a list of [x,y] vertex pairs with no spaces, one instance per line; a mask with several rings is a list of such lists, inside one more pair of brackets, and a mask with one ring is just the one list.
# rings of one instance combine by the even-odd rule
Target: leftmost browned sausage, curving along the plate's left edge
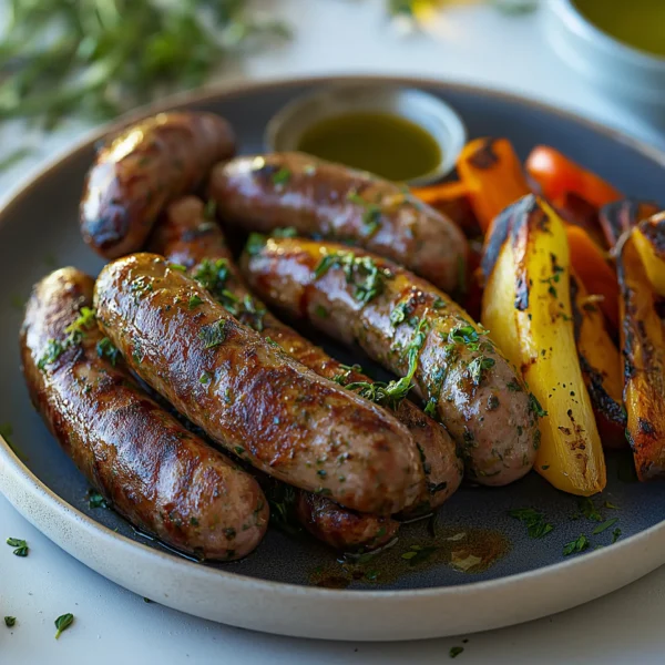
[[93,286],[63,268],[34,287],[21,329],[34,408],[89,482],[136,528],[197,557],[245,556],[267,528],[263,491],[139,388],[94,318],[86,319]]

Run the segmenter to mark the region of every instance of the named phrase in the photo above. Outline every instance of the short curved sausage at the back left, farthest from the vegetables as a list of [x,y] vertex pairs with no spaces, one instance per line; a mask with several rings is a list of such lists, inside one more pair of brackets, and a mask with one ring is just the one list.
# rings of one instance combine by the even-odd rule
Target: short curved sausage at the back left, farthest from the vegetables
[[231,125],[213,113],[160,113],[129,126],[99,151],[88,173],[83,239],[106,258],[137,252],[164,205],[234,152]]

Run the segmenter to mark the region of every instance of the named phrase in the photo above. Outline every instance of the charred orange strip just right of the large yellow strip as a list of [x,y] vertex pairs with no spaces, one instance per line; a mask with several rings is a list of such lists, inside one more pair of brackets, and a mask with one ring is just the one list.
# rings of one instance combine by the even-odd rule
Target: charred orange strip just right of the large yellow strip
[[605,448],[625,448],[622,360],[605,329],[597,299],[586,293],[574,274],[571,275],[571,305],[580,369],[593,405],[601,441]]

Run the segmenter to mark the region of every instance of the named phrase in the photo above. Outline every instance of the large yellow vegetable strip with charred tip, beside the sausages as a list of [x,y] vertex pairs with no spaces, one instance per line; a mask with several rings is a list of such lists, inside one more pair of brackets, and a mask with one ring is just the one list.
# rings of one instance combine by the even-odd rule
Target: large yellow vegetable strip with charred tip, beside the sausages
[[542,416],[536,471],[573,494],[601,491],[605,461],[577,362],[563,222],[525,196],[495,221],[483,272],[482,323],[521,368]]

